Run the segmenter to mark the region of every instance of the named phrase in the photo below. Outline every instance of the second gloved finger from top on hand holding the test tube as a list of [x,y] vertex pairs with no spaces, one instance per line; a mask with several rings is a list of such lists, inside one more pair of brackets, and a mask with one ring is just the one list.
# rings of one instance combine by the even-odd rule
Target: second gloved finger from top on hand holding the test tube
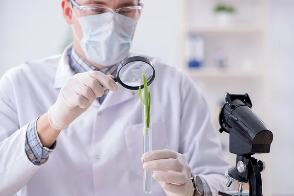
[[145,162],[143,168],[147,171],[180,172],[183,169],[183,166],[177,159],[159,159]]

